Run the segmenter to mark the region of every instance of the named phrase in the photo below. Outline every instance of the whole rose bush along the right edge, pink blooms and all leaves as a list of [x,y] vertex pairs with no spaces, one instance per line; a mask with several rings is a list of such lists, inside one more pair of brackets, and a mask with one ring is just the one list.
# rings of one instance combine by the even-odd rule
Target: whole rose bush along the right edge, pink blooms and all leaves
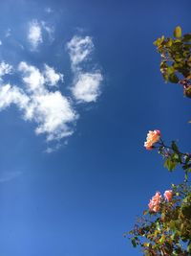
[[[181,35],[180,27],[174,38],[163,35],[155,45],[161,56],[160,71],[165,81],[183,85],[184,95],[191,98],[191,34]],[[191,255],[191,153],[181,152],[175,141],[167,146],[158,129],[150,130],[144,143],[146,150],[157,150],[164,167],[173,172],[180,166],[184,172],[181,184],[172,184],[161,196],[156,192],[128,235],[134,247],[140,246],[145,256]]]

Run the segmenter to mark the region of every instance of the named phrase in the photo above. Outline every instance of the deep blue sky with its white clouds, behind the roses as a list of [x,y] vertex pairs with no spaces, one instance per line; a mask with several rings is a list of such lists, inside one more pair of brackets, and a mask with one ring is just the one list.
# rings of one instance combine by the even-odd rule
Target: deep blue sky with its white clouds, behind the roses
[[0,2],[0,254],[141,255],[123,238],[180,182],[149,129],[189,151],[191,111],[153,41],[189,0]]

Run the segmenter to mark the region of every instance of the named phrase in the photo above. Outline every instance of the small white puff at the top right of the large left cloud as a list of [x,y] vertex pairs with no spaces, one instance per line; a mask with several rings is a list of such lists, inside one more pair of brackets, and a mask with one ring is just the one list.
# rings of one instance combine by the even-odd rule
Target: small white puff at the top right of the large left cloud
[[58,81],[63,81],[64,76],[60,73],[56,73],[53,67],[45,64],[44,70],[45,81],[48,85],[55,86]]

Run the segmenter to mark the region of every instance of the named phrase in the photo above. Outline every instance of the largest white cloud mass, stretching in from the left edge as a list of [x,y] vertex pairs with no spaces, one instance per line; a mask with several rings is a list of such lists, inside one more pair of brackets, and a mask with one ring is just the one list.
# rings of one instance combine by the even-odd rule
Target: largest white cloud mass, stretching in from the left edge
[[[0,110],[11,104],[17,105],[22,110],[26,121],[33,121],[37,124],[36,134],[46,134],[47,141],[60,140],[72,135],[77,114],[70,100],[58,90],[49,91],[46,87],[47,76],[44,78],[43,72],[36,67],[22,61],[18,66],[18,71],[21,72],[25,88],[22,90],[11,84],[1,85]],[[52,72],[53,69],[51,69],[51,74]],[[48,77],[48,79],[55,85],[60,80],[60,76],[56,73],[52,75],[54,77]]]

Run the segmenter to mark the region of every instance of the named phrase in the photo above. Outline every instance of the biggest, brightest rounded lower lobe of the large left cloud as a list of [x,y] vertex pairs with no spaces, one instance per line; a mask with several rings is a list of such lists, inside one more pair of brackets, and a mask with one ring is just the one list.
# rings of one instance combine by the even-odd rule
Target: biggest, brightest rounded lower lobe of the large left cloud
[[74,122],[76,115],[69,100],[59,91],[35,96],[37,104],[33,114],[39,124],[36,133],[47,133],[47,140],[59,140],[73,134],[68,124]]

